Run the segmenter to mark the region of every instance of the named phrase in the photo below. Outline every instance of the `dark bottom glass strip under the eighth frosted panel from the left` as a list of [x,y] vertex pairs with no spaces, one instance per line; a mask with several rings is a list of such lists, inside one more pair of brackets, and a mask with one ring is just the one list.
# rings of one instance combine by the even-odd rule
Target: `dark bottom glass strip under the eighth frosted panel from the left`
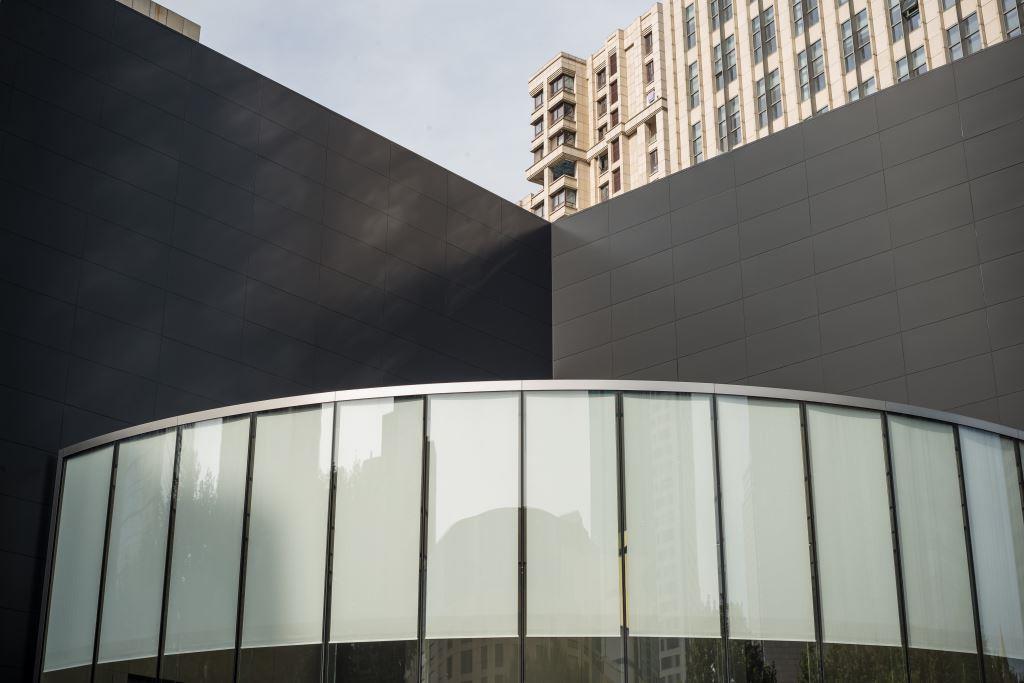
[[720,638],[630,638],[631,683],[718,683]]

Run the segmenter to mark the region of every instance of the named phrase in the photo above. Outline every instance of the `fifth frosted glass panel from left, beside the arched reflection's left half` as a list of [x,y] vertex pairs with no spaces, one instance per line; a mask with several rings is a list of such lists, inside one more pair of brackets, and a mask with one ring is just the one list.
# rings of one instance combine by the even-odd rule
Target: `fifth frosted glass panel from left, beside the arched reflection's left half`
[[338,404],[331,640],[416,638],[423,400]]

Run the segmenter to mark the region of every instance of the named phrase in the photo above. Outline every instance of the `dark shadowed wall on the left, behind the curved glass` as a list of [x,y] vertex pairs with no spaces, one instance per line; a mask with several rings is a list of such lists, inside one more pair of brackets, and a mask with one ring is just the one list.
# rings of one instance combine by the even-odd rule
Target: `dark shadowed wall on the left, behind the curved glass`
[[113,0],[0,2],[0,680],[58,446],[214,405],[550,377],[547,223]]

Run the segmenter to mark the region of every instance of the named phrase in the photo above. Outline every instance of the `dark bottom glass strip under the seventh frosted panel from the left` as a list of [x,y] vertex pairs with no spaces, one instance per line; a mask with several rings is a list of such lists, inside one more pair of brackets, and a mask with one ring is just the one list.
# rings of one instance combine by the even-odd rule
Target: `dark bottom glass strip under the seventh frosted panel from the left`
[[528,683],[620,683],[623,639],[526,638]]

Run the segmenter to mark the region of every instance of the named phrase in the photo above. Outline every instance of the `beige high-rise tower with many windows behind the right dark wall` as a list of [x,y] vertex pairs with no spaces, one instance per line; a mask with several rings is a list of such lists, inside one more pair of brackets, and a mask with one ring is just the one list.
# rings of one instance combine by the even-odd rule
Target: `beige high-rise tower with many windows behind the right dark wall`
[[668,0],[529,80],[551,220],[1021,34],[1024,0]]

